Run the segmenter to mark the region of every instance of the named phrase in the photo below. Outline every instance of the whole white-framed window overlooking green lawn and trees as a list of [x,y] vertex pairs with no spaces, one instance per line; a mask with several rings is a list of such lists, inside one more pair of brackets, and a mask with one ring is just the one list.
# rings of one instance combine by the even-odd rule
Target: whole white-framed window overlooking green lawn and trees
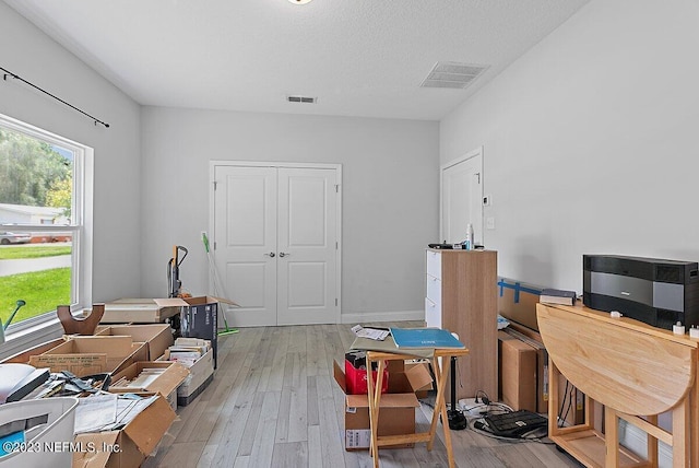
[[0,115],[0,318],[92,302],[92,149]]

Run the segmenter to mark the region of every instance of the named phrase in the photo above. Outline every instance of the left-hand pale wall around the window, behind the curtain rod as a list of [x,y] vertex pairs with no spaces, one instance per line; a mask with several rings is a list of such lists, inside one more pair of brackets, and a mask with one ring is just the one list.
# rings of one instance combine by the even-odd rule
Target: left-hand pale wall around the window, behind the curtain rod
[[140,289],[140,114],[112,84],[0,2],[0,67],[110,124],[82,114],[0,74],[0,113],[92,147],[94,182],[93,301]]

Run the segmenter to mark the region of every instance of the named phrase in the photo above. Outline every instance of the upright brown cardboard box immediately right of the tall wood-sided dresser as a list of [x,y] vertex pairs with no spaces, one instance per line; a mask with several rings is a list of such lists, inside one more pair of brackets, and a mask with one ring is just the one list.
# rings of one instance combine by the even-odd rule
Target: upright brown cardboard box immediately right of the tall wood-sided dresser
[[498,344],[501,401],[513,410],[536,412],[536,350],[502,331]]

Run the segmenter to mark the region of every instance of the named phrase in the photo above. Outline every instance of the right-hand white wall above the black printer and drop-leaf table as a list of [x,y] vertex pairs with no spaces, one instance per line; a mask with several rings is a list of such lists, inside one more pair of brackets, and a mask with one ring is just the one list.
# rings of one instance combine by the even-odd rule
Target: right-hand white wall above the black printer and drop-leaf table
[[484,147],[499,274],[582,291],[583,254],[699,260],[699,3],[593,0],[440,122]]

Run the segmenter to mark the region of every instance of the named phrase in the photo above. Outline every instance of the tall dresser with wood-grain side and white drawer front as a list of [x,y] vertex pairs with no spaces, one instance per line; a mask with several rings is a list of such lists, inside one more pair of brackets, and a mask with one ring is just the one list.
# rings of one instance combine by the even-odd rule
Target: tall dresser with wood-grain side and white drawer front
[[483,390],[497,401],[497,251],[429,248],[425,277],[427,326],[458,334],[470,351],[458,361],[457,398]]

